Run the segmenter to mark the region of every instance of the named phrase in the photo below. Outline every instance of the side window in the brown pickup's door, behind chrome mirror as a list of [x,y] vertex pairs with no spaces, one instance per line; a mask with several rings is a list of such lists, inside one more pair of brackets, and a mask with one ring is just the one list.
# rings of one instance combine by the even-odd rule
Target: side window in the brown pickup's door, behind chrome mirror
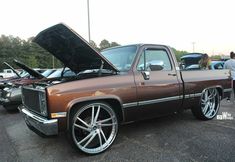
[[146,49],[140,56],[137,70],[172,70],[171,62],[165,50]]

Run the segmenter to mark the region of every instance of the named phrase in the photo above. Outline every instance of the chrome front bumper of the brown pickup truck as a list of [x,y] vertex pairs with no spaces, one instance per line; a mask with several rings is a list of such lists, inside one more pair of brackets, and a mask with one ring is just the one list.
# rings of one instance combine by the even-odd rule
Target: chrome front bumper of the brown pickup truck
[[46,119],[30,112],[24,106],[20,106],[19,110],[24,116],[25,123],[35,133],[46,136],[58,134],[58,119]]

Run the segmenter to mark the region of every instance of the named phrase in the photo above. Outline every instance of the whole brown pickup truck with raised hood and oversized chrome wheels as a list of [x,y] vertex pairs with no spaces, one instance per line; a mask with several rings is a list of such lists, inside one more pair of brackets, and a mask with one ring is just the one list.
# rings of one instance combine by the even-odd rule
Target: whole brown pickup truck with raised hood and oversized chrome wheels
[[229,95],[228,70],[181,71],[171,48],[155,44],[94,50],[64,24],[39,33],[34,42],[77,75],[22,88],[19,107],[38,134],[67,131],[82,152],[98,154],[116,138],[119,124],[182,112],[213,119]]

